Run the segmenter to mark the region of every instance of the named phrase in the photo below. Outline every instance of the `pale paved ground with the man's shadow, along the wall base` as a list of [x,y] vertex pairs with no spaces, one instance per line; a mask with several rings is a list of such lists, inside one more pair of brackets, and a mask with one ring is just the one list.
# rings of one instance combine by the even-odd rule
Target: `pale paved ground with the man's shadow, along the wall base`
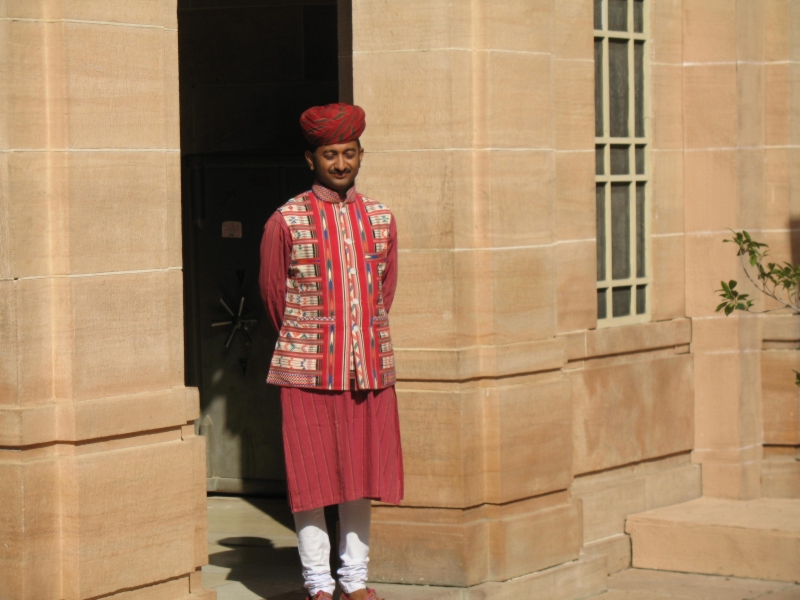
[[[292,515],[284,500],[208,499],[203,585],[219,600],[303,600]],[[424,590],[381,585],[388,600],[427,600]],[[629,569],[596,600],[800,600],[800,586],[775,581]]]

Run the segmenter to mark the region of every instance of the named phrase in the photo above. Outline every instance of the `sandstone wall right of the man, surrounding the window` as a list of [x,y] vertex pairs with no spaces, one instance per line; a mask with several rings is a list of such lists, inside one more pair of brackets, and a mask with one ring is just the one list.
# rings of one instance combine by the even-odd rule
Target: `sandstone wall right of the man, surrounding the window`
[[651,17],[656,322],[596,330],[592,3],[353,2],[361,185],[402,240],[407,498],[375,510],[373,576],[502,581],[614,536],[624,563],[628,512],[699,495],[674,4]]

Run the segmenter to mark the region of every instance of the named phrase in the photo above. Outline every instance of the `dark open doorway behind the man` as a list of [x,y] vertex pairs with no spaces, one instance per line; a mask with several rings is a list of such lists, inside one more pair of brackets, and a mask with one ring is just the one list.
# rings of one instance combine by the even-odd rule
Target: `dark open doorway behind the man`
[[258,250],[267,218],[310,187],[300,113],[340,96],[336,0],[181,0],[178,35],[186,384],[208,490],[281,495]]

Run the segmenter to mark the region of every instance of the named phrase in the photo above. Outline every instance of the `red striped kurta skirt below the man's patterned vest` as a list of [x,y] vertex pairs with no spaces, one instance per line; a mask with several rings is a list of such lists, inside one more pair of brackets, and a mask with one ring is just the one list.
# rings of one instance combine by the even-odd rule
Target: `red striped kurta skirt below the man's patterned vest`
[[281,388],[292,512],[372,498],[403,498],[394,388],[325,392]]

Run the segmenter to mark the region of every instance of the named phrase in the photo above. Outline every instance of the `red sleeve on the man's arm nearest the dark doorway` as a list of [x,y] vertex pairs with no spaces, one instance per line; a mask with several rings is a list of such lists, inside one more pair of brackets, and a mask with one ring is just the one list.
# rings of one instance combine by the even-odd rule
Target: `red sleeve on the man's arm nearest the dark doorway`
[[289,227],[280,213],[273,214],[264,226],[261,238],[261,270],[258,285],[267,317],[275,328],[281,330],[286,307],[286,277],[292,256],[292,239]]

